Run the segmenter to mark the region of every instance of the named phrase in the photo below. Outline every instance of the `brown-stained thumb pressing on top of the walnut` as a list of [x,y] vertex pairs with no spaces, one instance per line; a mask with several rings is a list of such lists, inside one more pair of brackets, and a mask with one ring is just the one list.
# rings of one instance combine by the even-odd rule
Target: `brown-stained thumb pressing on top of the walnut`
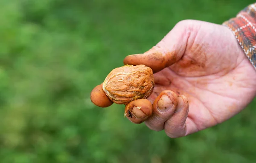
[[146,65],[154,73],[174,64],[183,56],[190,35],[188,23],[181,21],[156,46],[142,54],[126,56],[125,65]]

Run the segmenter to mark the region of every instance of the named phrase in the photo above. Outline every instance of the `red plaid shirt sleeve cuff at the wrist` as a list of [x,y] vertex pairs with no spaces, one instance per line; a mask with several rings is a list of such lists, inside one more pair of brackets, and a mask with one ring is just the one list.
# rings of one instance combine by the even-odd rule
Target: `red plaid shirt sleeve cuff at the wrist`
[[236,17],[223,23],[229,28],[244,53],[256,69],[256,3],[253,3],[242,11]]

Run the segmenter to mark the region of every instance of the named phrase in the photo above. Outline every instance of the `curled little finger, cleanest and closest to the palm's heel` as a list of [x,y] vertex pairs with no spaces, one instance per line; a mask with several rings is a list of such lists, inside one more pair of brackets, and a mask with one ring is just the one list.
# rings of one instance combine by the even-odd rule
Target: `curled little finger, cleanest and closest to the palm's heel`
[[165,122],[164,129],[170,138],[186,135],[186,119],[189,113],[189,100],[186,96],[178,96],[178,106],[174,114]]

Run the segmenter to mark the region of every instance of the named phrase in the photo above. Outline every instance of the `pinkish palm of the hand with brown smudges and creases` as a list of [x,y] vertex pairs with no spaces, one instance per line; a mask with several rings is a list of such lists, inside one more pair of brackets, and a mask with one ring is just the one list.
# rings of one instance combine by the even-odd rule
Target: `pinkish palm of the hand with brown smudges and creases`
[[187,134],[231,118],[256,93],[255,70],[229,29],[198,22],[190,30],[182,58],[154,74],[156,87],[149,98],[153,102],[163,90],[185,95],[186,125],[192,126]]

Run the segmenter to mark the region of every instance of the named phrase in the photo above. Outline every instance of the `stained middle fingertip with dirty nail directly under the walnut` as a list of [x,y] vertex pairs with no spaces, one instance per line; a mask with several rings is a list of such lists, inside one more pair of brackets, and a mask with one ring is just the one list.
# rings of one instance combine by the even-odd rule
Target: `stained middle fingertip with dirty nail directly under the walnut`
[[134,124],[141,124],[152,115],[152,104],[147,99],[131,101],[125,106],[125,116]]

